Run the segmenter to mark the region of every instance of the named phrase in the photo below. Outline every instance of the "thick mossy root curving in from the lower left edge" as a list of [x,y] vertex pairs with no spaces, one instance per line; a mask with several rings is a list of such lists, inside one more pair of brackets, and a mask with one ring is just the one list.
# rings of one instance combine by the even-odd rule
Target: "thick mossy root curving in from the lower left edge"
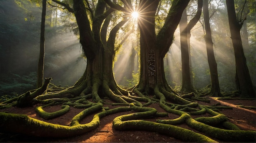
[[[102,106],[101,103],[97,105],[98,108]],[[71,137],[85,134],[98,126],[99,116],[94,116],[90,123],[70,127],[47,123],[30,118],[27,115],[0,112],[0,132],[15,132],[29,136],[43,137]]]

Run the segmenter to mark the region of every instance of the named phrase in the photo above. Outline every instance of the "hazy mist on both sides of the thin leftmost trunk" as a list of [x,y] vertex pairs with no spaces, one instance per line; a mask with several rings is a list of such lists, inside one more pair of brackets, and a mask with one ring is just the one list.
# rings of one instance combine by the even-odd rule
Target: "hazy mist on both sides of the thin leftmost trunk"
[[[31,11],[24,12],[24,7],[13,1],[0,1],[1,95],[36,88],[41,8],[33,3],[28,7]],[[52,77],[51,83],[56,86],[72,86],[85,67],[86,59],[74,32],[61,21],[54,27],[46,23],[44,77]]]

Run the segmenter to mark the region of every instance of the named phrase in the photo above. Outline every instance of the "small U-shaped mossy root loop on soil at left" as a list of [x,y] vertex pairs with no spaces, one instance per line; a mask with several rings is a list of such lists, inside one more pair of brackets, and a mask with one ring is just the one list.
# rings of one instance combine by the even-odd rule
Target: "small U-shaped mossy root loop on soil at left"
[[56,118],[58,116],[64,115],[64,114],[66,114],[67,112],[70,111],[70,106],[69,105],[62,105],[61,110],[58,110],[56,112],[51,112],[51,113],[45,112],[43,110],[43,108],[45,108],[47,106],[52,106],[52,105],[54,105],[54,102],[50,103],[50,104],[47,104],[47,105],[36,107],[36,112],[39,114],[40,117],[44,118],[45,120],[49,120],[49,119]]

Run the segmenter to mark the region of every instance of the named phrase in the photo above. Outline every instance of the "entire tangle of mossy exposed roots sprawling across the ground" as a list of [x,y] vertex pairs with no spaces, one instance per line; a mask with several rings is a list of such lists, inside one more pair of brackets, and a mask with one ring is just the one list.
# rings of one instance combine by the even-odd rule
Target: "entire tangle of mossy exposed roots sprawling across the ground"
[[[152,97],[144,95],[146,92],[138,86],[132,89],[132,92],[135,93],[132,94],[132,92],[127,92],[118,87],[115,82],[103,80],[101,83],[99,78],[95,77],[93,83],[87,82],[87,80],[80,80],[73,87],[59,92],[43,94],[42,92],[45,92],[46,89],[42,87],[32,93],[27,92],[16,98],[16,100],[22,101],[24,98],[26,99],[25,101],[29,101],[27,103],[30,105],[31,103],[46,104],[36,107],[38,114],[45,119],[55,118],[69,112],[70,106],[85,109],[72,118],[70,126],[46,123],[20,114],[0,113],[0,131],[45,137],[77,136],[96,129],[99,126],[100,119],[104,116],[118,112],[133,111],[135,113],[115,118],[113,127],[117,130],[159,132],[182,141],[192,142],[216,142],[215,139],[220,141],[255,141],[255,131],[241,131],[236,125],[230,123],[225,115],[218,112],[218,109],[232,109],[232,107],[200,105],[195,101],[209,102],[209,99],[195,96],[194,93],[180,96],[168,86],[158,85],[155,87],[155,95]],[[106,103],[104,98],[115,101],[115,103]],[[89,101],[89,99],[91,100]],[[9,105],[13,101],[15,100],[2,104]],[[158,113],[156,109],[146,107],[153,102],[159,103],[159,106],[166,112]],[[19,105],[21,103],[23,101]],[[52,113],[45,112],[43,109],[56,104],[63,104],[63,109]],[[124,107],[109,109],[109,107],[103,107],[103,104]],[[80,121],[88,114],[99,110],[102,111],[95,114],[90,123],[80,124]],[[179,115],[179,117],[172,120],[157,120],[156,122],[138,120],[155,116],[168,116],[168,113]],[[192,118],[193,115],[204,114],[206,115],[204,117]],[[199,132],[204,132],[207,136],[175,126],[178,124],[187,124]],[[227,130],[217,127],[223,127]]]

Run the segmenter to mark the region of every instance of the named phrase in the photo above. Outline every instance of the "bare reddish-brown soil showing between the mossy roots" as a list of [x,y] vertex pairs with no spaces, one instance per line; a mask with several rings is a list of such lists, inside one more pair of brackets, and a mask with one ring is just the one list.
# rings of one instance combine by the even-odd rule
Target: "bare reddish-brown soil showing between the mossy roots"
[[[220,103],[222,106],[231,106],[233,109],[223,109],[220,110],[222,114],[225,114],[231,123],[236,124],[241,130],[254,130],[256,131],[256,110],[255,109],[245,109],[237,107],[238,105],[244,106],[254,106],[255,100],[216,100],[215,98],[208,97],[211,102],[204,103],[198,102],[201,105],[214,105],[216,103]],[[105,105],[106,107],[107,105]],[[115,108],[117,106],[109,105],[110,109]],[[158,112],[165,112],[161,107],[159,107],[158,103],[153,103],[148,107],[153,107],[157,109]],[[52,107],[44,108],[46,112],[54,112],[61,109],[61,105],[55,105]],[[81,112],[83,109],[77,109],[74,107],[70,107],[70,111],[58,118],[54,118],[51,120],[47,120],[49,123],[55,123],[60,125],[70,125],[72,118]],[[7,113],[16,113],[16,114],[26,114],[32,118],[36,118],[41,121],[46,121],[41,118],[36,112],[35,107],[25,107],[25,108],[17,108],[11,107],[8,109],[0,109],[0,112]],[[106,116],[102,118],[100,121],[100,125],[96,130],[92,130],[86,134],[75,136],[72,138],[38,138],[31,136],[24,136],[21,134],[2,134],[0,133],[0,142],[182,142],[180,140],[174,139],[170,136],[158,134],[156,132],[146,132],[146,131],[119,131],[112,128],[112,121],[115,117],[130,114],[130,112],[119,112],[117,114],[112,114],[110,116]],[[148,121],[156,121],[157,119],[174,119],[179,116],[174,114],[168,114],[168,117],[155,117],[146,119]],[[94,114],[87,116],[81,121],[81,124],[89,123],[92,121],[92,117]],[[203,116],[203,115],[202,115]],[[193,118],[197,118],[200,116],[192,116]],[[190,128],[186,124],[177,125],[179,127],[183,127],[194,132],[198,132],[192,128]],[[36,130],[36,129],[35,129]],[[24,131],[26,132],[26,131]],[[216,140],[218,141],[218,140]]]

